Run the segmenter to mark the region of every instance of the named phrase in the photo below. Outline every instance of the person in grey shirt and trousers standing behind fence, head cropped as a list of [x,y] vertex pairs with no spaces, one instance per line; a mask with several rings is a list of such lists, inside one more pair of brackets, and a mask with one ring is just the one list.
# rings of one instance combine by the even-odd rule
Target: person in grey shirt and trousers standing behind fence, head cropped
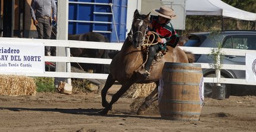
[[[51,38],[52,13],[54,14],[53,20],[57,22],[57,6],[55,0],[32,0],[30,14],[33,24],[36,26],[36,30],[38,30],[38,38]],[[51,56],[50,46],[45,46],[45,55]]]

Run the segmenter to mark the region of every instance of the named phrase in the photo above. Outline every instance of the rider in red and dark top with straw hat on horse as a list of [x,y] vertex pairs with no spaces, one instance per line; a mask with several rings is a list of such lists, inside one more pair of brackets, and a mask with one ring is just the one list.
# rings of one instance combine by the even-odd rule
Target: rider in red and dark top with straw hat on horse
[[149,78],[150,76],[149,69],[158,51],[166,51],[167,45],[174,48],[179,41],[179,36],[170,22],[171,19],[176,18],[173,9],[161,6],[160,9],[153,9],[152,11],[158,16],[152,17],[152,28],[147,34],[151,35],[151,31],[154,31],[159,37],[157,38],[158,44],[149,47],[148,60],[145,63],[145,69],[140,71],[145,78]]

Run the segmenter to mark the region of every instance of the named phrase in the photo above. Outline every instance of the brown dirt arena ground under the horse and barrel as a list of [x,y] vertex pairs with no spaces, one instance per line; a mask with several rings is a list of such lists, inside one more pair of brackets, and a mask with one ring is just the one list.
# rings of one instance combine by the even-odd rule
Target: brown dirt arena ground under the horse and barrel
[[101,116],[96,93],[0,95],[0,131],[256,131],[256,96],[205,98],[199,121],[163,120],[154,108],[136,115],[141,100],[120,98]]

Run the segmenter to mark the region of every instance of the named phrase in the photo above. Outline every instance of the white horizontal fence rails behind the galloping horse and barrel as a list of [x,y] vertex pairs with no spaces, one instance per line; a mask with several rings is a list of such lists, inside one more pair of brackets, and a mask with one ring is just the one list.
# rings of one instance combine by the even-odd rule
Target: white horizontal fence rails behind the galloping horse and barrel
[[[121,43],[101,43],[90,41],[74,41],[74,40],[41,40],[31,38],[0,38],[0,41],[13,42],[34,42],[43,43],[45,46],[57,46],[65,48],[87,48],[87,49],[105,49],[105,50],[120,50]],[[191,51],[194,54],[210,54],[211,49],[205,47],[180,47],[183,50]],[[238,49],[223,49],[226,55],[245,56],[246,53],[256,54],[255,50],[238,50]],[[109,65],[111,59],[95,59],[88,57],[70,57],[67,56],[45,56],[46,62],[78,62],[78,63],[95,63]],[[210,69],[210,64],[200,63],[202,68]],[[232,70],[246,70],[245,65],[227,65],[223,64],[222,69]],[[84,78],[84,79],[107,79],[107,74],[103,73],[73,73],[73,72],[45,72],[45,73],[1,73],[5,75],[24,75],[24,76],[45,76],[57,78]],[[244,85],[256,85],[255,83],[248,83],[245,79],[229,79],[229,78],[204,78],[204,82],[212,83],[233,83]]]

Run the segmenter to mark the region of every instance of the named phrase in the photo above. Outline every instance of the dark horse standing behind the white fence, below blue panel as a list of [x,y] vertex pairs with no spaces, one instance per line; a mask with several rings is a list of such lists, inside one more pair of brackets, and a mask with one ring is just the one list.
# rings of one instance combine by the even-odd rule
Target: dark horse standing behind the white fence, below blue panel
[[[79,40],[79,41],[98,41],[98,42],[106,42],[109,40],[107,37],[100,33],[84,33],[84,34],[74,34],[68,35],[68,40]],[[104,49],[85,49],[85,48],[70,48],[70,54],[73,57],[90,57],[90,58],[103,58],[105,50]],[[81,63],[80,65],[77,63],[71,63],[71,66],[78,67],[80,66],[85,70],[93,70],[93,72],[102,72],[102,66],[97,64],[90,63]]]

